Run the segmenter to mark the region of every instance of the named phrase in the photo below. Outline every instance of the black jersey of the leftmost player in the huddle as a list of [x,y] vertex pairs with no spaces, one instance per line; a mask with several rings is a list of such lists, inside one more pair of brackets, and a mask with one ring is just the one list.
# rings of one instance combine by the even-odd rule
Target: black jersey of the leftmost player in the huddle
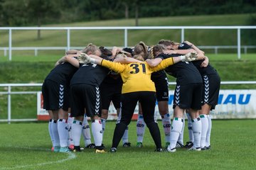
[[77,67],[73,66],[68,62],[63,62],[58,64],[54,69],[50,71],[46,79],[55,81],[58,84],[70,84],[70,79],[73,77],[73,74],[78,70]]

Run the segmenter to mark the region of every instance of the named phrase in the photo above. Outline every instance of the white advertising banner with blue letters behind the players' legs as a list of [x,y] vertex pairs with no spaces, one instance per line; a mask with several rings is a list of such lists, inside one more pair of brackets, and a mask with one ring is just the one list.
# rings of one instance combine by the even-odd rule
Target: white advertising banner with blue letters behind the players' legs
[[[173,118],[174,91],[169,91],[169,113]],[[210,111],[213,119],[256,118],[256,90],[220,90],[218,105]],[[137,120],[139,106],[134,110],[133,120]],[[38,120],[48,120],[48,112],[43,109],[43,96],[38,92]],[[161,119],[156,103],[155,116]],[[108,120],[117,120],[117,111],[110,103]]]

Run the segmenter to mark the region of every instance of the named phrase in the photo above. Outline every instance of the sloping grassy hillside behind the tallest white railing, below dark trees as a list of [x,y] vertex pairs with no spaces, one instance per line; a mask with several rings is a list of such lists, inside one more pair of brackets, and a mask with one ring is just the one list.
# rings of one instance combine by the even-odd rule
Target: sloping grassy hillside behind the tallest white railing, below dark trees
[[[139,26],[248,26],[253,14],[211,15],[211,16],[175,16],[139,18]],[[227,22],[228,21],[228,22]],[[45,25],[47,27],[88,27],[88,26],[134,26],[134,19],[112,21],[92,21],[81,23],[63,23]],[[241,45],[251,45],[245,38],[247,30],[241,30]],[[65,30],[42,30],[42,38],[37,40],[36,30],[13,30],[14,47],[65,47],[67,33]],[[237,45],[237,30],[186,30],[185,39],[196,45]],[[9,32],[0,30],[0,47],[8,47]],[[223,38],[225,37],[225,38]],[[83,47],[89,42],[111,47],[124,45],[124,30],[71,30],[70,45]],[[133,46],[143,40],[147,45],[154,45],[160,39],[181,40],[181,30],[129,30],[128,45]]]

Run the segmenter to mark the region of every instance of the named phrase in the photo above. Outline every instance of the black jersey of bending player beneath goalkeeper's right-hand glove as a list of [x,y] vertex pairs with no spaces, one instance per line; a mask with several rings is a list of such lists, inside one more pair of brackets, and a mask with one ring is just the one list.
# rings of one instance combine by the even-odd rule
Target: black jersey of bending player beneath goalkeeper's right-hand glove
[[[166,59],[169,57],[178,57],[178,54],[166,55],[161,53],[156,58]],[[179,85],[203,83],[201,74],[198,69],[191,62],[177,62],[166,69],[164,69],[167,74],[176,78],[176,82]]]

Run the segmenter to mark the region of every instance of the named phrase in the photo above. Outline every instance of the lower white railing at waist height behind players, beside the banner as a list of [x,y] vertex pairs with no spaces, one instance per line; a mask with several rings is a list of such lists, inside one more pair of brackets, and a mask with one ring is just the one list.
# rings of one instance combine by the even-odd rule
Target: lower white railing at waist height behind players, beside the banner
[[[175,82],[169,83],[169,85],[175,85]],[[232,84],[256,84],[256,81],[222,81],[221,84],[227,84],[227,85],[232,85]],[[16,121],[36,121],[37,119],[12,119],[11,118],[11,95],[14,94],[38,94],[38,91],[11,91],[12,87],[28,87],[28,86],[42,86],[42,84],[0,84],[0,87],[7,87],[7,91],[0,91],[1,94],[8,95],[7,98],[7,119],[0,119],[0,122],[16,122]],[[36,107],[36,106],[35,106]],[[218,107],[218,106],[217,106]],[[3,114],[3,113],[1,113]],[[36,113],[35,113],[36,114]]]

